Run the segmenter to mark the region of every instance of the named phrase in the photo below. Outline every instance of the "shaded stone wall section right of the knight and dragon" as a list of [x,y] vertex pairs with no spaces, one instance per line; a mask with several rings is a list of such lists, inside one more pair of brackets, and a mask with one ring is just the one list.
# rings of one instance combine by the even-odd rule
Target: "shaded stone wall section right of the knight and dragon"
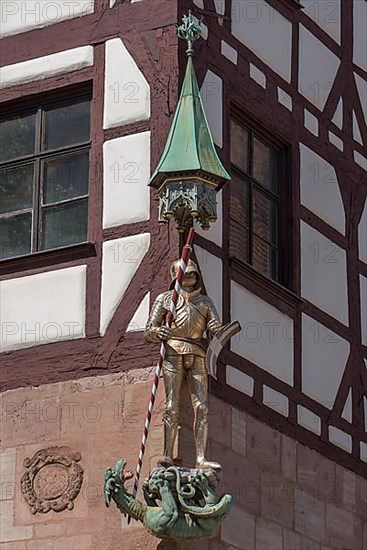
[[[187,459],[189,406],[183,418]],[[217,541],[180,550],[367,550],[366,479],[213,396],[209,422],[208,455],[235,502]]]

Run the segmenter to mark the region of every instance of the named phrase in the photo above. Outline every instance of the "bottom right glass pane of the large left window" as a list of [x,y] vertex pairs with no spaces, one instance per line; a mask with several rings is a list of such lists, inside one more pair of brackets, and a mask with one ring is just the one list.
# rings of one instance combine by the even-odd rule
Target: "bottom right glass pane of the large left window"
[[87,199],[44,209],[41,248],[46,250],[85,242],[87,227]]

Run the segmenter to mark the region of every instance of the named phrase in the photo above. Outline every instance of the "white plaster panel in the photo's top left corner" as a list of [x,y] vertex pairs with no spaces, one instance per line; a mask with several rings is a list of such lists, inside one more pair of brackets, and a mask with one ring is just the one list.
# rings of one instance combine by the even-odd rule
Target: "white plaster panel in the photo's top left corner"
[[1,0],[0,38],[94,11],[94,0]]

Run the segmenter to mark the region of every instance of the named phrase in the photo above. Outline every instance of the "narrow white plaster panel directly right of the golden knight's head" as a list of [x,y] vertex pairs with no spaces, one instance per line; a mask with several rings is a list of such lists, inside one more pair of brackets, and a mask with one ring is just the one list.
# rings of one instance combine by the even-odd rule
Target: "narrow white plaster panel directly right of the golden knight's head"
[[208,296],[213,300],[218,315],[222,319],[222,260],[200,246],[194,245],[194,250]]

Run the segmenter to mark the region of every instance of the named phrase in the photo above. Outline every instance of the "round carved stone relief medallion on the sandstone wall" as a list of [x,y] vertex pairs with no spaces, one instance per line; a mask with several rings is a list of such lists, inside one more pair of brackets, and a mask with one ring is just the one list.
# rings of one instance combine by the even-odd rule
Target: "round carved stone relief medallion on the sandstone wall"
[[73,509],[83,483],[80,459],[69,447],[48,447],[24,459],[21,491],[32,514]]

